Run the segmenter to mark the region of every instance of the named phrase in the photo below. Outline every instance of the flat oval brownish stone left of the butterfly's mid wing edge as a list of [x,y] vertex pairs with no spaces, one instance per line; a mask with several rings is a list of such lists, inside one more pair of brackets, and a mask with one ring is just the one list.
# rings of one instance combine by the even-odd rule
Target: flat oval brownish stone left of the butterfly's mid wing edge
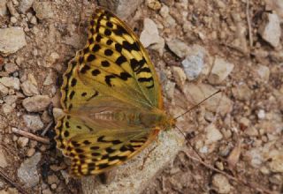
[[35,95],[27,97],[22,103],[28,112],[40,112],[50,105],[50,97],[48,95]]

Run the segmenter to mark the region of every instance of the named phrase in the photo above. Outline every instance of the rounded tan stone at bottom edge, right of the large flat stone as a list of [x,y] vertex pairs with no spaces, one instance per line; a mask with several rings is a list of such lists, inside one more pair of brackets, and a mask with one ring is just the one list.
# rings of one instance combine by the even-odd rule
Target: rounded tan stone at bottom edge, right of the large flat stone
[[212,185],[218,193],[229,193],[231,190],[231,184],[225,175],[216,174],[212,177]]

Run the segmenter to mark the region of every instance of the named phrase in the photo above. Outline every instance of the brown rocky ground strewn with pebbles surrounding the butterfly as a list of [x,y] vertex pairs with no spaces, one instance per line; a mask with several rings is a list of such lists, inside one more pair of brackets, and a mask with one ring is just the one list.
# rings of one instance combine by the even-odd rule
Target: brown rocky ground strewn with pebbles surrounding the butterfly
[[168,112],[222,91],[180,117],[187,143],[142,193],[282,193],[283,2],[110,2],[0,1],[0,193],[91,193],[67,174],[53,116],[88,17],[107,3],[149,50]]

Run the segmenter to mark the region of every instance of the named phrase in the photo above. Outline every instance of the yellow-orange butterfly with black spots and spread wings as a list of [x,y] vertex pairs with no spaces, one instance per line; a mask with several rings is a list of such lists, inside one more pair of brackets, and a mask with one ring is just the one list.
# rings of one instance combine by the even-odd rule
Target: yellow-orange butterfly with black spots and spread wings
[[63,75],[57,147],[74,176],[97,175],[140,153],[169,130],[161,86],[149,54],[130,27],[97,8],[88,41]]

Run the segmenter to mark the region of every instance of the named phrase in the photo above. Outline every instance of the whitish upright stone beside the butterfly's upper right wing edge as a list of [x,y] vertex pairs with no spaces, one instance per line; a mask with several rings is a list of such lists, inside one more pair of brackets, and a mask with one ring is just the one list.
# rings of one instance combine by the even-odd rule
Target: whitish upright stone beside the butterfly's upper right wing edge
[[147,48],[151,44],[157,43],[159,40],[159,34],[156,23],[152,19],[143,20],[143,30],[140,36],[140,41],[142,45]]

